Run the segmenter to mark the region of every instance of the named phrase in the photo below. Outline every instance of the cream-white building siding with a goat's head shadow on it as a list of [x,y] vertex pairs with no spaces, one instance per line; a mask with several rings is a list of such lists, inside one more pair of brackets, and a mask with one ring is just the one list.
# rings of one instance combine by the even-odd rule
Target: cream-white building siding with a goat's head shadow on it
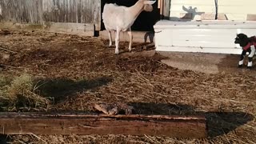
[[[214,0],[171,0],[170,4],[170,19],[177,20],[181,18],[182,14],[188,13],[182,9],[182,6],[186,8],[192,6],[197,8],[197,13],[208,14],[207,17],[214,19],[215,4]],[[255,14],[256,18],[256,0],[218,0],[218,14],[222,14],[227,20],[242,20],[246,21],[247,14]],[[193,20],[203,19],[201,16],[204,14],[194,15]],[[210,15],[210,16],[209,16]]]

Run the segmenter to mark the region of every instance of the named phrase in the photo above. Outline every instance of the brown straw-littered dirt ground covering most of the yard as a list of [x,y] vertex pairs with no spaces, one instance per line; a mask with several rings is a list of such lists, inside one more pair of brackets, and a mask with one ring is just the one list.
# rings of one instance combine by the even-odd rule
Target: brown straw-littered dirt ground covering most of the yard
[[[95,102],[126,102],[137,114],[206,114],[208,138],[131,135],[14,135],[14,143],[255,143],[256,73],[202,73],[167,66],[145,44],[121,42],[121,54],[101,38],[45,32],[0,31],[0,70],[44,82],[49,110],[94,110]],[[144,47],[144,49],[142,49]],[[2,57],[2,58],[1,58]],[[223,59],[222,59],[223,60]],[[218,69],[227,66],[220,61]],[[237,60],[235,61],[237,62]],[[223,65],[223,66],[220,66]],[[194,63],[194,66],[197,66]]]

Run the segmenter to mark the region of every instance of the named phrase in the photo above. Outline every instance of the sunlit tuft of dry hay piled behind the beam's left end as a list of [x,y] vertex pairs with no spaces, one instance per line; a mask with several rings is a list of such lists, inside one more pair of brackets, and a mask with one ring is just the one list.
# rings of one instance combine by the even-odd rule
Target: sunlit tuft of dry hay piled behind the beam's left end
[[6,110],[46,109],[50,100],[35,93],[37,87],[29,74],[22,74],[12,80],[1,77],[2,106]]

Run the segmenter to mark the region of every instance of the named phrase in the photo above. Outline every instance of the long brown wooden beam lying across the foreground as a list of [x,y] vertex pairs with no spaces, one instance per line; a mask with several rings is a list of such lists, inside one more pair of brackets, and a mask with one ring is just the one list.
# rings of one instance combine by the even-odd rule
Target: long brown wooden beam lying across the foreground
[[0,113],[0,134],[131,134],[206,138],[205,116]]

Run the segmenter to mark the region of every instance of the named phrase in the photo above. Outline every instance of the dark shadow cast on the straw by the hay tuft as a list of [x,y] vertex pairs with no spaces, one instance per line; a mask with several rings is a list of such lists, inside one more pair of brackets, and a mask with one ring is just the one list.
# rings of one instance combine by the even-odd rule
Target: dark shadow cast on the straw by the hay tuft
[[51,98],[53,103],[64,102],[67,98],[76,96],[84,90],[95,89],[100,86],[105,86],[112,82],[111,77],[101,77],[94,79],[81,79],[78,81],[67,78],[41,78],[37,79],[38,89],[42,97]]

